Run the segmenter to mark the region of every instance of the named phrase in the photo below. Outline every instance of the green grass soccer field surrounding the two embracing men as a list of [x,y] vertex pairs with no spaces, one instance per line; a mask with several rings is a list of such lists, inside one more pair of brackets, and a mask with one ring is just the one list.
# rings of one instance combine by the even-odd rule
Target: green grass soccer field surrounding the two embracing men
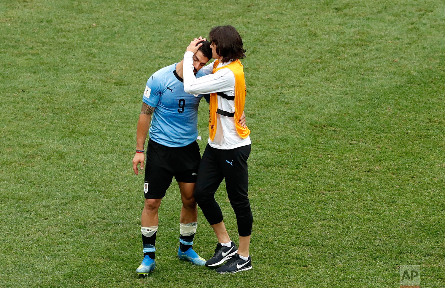
[[[254,268],[176,258],[174,182],[139,278],[146,80],[224,24],[247,49]],[[2,0],[0,287],[389,288],[400,264],[444,287],[444,35],[440,0]],[[202,101],[203,139],[207,119]],[[217,200],[236,240],[224,185]]]

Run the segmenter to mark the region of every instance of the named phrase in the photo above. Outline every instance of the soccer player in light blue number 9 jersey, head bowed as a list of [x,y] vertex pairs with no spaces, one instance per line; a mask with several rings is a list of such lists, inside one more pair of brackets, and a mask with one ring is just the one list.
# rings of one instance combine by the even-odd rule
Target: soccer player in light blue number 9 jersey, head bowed
[[[210,43],[202,42],[204,44],[193,56],[196,77],[212,73],[211,68],[204,67],[212,57]],[[144,146],[150,127],[144,180],[145,205],[141,217],[144,258],[136,269],[141,275],[147,275],[155,267],[158,209],[173,176],[178,182],[182,200],[178,257],[195,265],[206,263],[192,247],[198,225],[193,190],[201,160],[196,139],[198,104],[203,95],[191,95],[184,91],[182,63],[164,67],[151,75],[142,96],[136,154],[133,158],[133,170],[138,175],[139,163],[140,170],[143,170]]]

